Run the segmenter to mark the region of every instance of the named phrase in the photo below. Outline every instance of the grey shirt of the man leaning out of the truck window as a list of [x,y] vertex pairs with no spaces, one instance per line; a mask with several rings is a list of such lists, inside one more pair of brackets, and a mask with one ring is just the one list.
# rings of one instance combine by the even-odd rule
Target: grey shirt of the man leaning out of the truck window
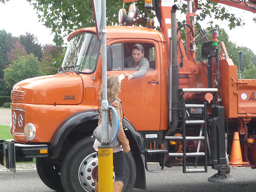
[[138,70],[133,73],[133,78],[143,77],[150,68],[150,62],[148,62],[147,58],[144,56],[142,56],[142,58],[137,62],[135,67],[133,66],[133,62],[133,56],[124,59],[124,65],[126,64],[129,68],[135,68]]

